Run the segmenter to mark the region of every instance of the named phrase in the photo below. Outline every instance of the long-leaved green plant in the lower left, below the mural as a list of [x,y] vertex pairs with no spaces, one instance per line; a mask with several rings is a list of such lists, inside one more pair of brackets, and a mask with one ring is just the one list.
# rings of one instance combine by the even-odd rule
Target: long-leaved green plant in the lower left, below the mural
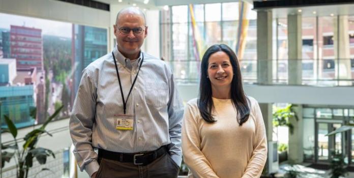
[[[55,112],[49,116],[46,122],[38,129],[35,129],[26,134],[24,139],[24,144],[22,145],[22,150],[19,149],[18,142],[16,140],[17,128],[10,118],[5,115],[5,122],[8,128],[3,129],[4,132],[10,132],[14,138],[13,143],[6,145],[1,145],[2,150],[12,150],[12,152],[4,151],[2,152],[2,166],[4,167],[5,161],[10,162],[11,158],[15,157],[16,163],[16,177],[24,178],[28,176],[28,170],[33,166],[33,158],[36,158],[40,164],[45,164],[48,156],[53,156],[54,153],[51,150],[44,149],[43,147],[37,147],[36,144],[39,140],[39,137],[46,133],[49,136],[52,136],[49,132],[45,130],[45,127],[53,118],[60,112],[63,106],[55,110]],[[36,115],[36,111],[31,112],[32,117]],[[48,170],[48,169],[43,169]]]

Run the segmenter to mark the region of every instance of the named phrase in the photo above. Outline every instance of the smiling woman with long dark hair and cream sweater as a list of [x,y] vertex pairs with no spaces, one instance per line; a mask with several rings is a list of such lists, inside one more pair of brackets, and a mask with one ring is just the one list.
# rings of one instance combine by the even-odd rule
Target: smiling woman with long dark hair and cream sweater
[[267,138],[257,101],[246,97],[236,54],[224,44],[206,50],[199,97],[187,103],[182,128],[189,177],[260,177]]

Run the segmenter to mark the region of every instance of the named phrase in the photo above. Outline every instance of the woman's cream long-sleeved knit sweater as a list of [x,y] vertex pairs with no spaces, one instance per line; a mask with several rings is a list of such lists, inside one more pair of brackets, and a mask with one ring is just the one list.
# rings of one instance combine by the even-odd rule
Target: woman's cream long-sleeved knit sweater
[[185,108],[182,152],[189,177],[260,177],[267,160],[267,137],[262,113],[254,98],[250,116],[242,126],[231,100],[213,98],[216,123],[200,116],[197,99]]

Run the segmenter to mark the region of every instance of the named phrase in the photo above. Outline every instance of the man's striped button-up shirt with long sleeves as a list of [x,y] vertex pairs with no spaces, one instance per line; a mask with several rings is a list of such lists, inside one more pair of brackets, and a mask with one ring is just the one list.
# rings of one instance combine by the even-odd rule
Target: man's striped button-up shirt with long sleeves
[[123,114],[124,109],[113,56],[108,53],[83,70],[70,118],[74,155],[81,171],[85,169],[91,176],[99,169],[94,147],[136,153],[171,143],[171,158],[180,165],[183,105],[171,69],[143,52],[133,61],[116,47],[113,53],[125,100],[141,65],[127,101],[126,113],[134,115],[133,130],[116,129],[117,115]]

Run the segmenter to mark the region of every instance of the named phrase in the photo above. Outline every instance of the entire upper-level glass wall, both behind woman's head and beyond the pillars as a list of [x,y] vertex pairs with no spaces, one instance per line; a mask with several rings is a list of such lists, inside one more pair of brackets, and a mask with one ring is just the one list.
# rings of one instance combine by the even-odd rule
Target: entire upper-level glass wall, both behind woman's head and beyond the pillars
[[[229,45],[244,82],[257,81],[256,12],[248,3],[172,6],[161,11],[161,56],[179,82],[197,82],[204,51]],[[354,16],[302,18],[302,84],[354,84]],[[273,83],[288,83],[288,20],[273,21]],[[261,59],[258,59],[261,60]],[[195,68],[196,67],[196,68]]]

